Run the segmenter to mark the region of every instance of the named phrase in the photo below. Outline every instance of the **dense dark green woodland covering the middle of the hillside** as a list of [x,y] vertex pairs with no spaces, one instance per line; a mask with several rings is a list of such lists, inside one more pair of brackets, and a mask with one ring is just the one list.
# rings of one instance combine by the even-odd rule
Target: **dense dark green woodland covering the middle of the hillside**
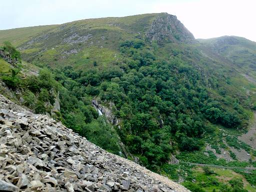
[[[21,80],[17,69],[12,69],[11,75],[2,79],[11,88],[27,87],[24,103],[37,113],[50,112],[50,105],[45,103],[53,104],[51,94],[59,91],[61,111],[56,117],[89,138],[98,137],[96,128],[93,133],[88,130],[102,120],[96,120],[98,115],[90,98],[99,96],[105,103],[113,102],[113,113],[121,119],[121,128],[115,131],[129,151],[149,168],[168,160],[177,147],[181,151],[198,150],[203,145],[203,133],[211,131],[205,126],[206,119],[228,128],[241,128],[246,114],[240,103],[234,99],[230,107],[229,103],[220,103],[224,95],[217,100],[208,93],[209,84],[218,89],[218,79],[209,76],[206,82],[178,54],[167,61],[159,59],[139,39],[121,42],[120,51],[125,58],[123,64],[107,71],[76,71],[67,66],[42,69],[38,76]],[[102,140],[107,139],[95,142]],[[97,144],[114,153],[119,151],[117,144],[107,145],[109,148],[105,143]]]

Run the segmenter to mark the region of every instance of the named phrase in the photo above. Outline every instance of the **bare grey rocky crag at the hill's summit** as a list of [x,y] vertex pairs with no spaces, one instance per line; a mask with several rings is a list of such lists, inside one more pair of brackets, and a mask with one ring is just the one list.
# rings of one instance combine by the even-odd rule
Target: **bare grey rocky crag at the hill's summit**
[[184,42],[193,43],[195,38],[189,30],[177,19],[175,15],[161,13],[152,22],[146,31],[146,36],[151,41],[162,42]]

